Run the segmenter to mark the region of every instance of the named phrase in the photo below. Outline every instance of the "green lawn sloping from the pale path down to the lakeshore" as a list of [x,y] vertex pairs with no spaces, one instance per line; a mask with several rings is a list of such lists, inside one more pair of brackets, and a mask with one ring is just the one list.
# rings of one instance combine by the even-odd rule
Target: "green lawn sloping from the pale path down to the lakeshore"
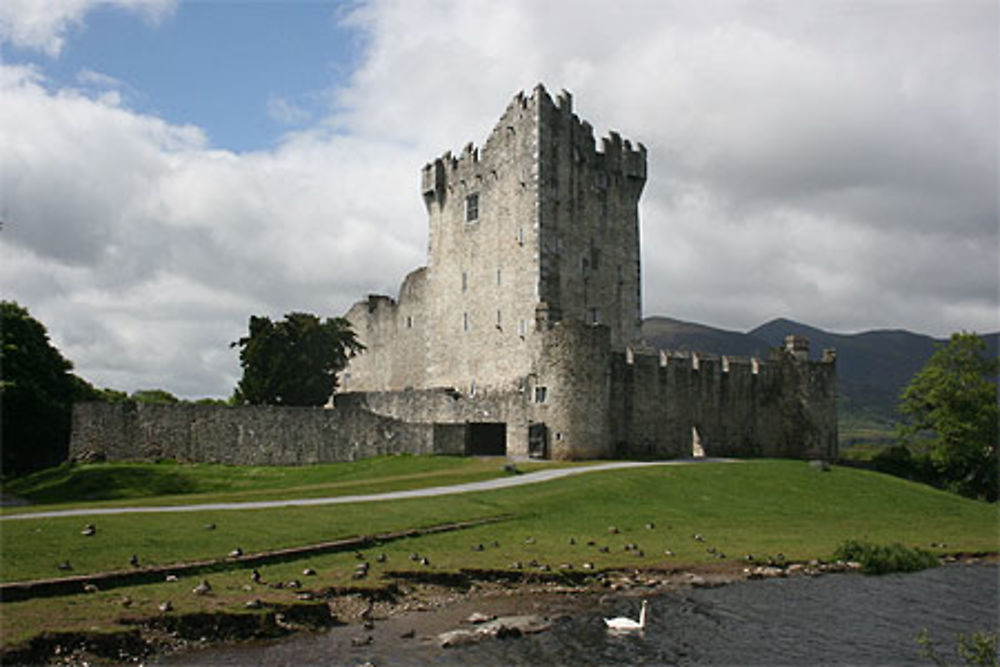
[[[408,463],[427,465],[421,459]],[[800,461],[754,460],[595,472],[500,491],[394,502],[4,521],[0,578],[59,576],[56,565],[64,559],[73,564],[72,574],[83,574],[127,569],[133,553],[142,563],[166,564],[221,558],[236,546],[251,553],[502,514],[512,518],[385,544],[377,550],[386,554],[384,564],[375,562],[376,551],[370,550],[364,554],[372,565],[365,584],[371,586],[389,570],[509,569],[514,561],[537,560],[553,570],[562,563],[579,570],[585,561],[597,569],[718,562],[707,553],[708,547],[725,553],[730,561],[746,554],[764,557],[779,552],[804,560],[830,558],[847,539],[924,548],[931,542],[945,543],[943,551],[949,552],[995,552],[1000,542],[995,504],[863,470],[834,467],[821,472]],[[88,522],[97,525],[92,537],[80,535]],[[216,524],[215,530],[205,530],[209,522]],[[652,529],[646,528],[649,522]],[[609,533],[610,526],[619,532]],[[704,535],[705,541],[692,539],[694,533]],[[596,545],[586,546],[588,540]],[[498,546],[492,546],[494,541]],[[626,551],[627,543],[639,545],[644,555]],[[480,544],[482,551],[473,550]],[[599,552],[598,546],[608,546],[609,552]],[[665,556],[665,549],[674,555]],[[411,561],[408,556],[413,552],[427,555],[430,566]],[[318,576],[303,583],[317,589],[351,584],[356,563],[352,553],[326,554],[261,571],[274,581],[302,578],[302,569],[312,567]],[[189,578],[4,603],[3,641],[7,644],[42,629],[104,627],[126,614],[155,615],[158,601],[168,598],[180,611],[241,611],[242,602],[253,596],[294,601],[287,590],[246,591],[247,577],[247,569],[212,574],[215,592],[206,597],[190,593],[194,580]],[[115,604],[126,594],[133,598],[127,612]]]

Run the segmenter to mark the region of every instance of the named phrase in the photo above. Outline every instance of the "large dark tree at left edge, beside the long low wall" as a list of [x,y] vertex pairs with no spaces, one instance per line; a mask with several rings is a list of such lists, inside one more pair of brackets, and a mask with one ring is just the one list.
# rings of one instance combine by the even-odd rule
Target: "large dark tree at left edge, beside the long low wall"
[[26,308],[3,301],[0,309],[2,460],[11,476],[65,461],[73,401],[98,400],[100,392],[70,372],[73,364]]

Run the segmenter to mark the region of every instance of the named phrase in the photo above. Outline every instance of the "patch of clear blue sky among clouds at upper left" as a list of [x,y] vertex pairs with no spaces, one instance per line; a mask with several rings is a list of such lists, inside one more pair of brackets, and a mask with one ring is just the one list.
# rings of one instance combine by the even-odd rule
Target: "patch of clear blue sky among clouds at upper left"
[[[363,35],[336,2],[185,2],[151,21],[98,5],[71,29],[59,57],[12,48],[51,85],[83,85],[82,72],[121,83],[129,106],[173,124],[196,123],[213,147],[272,147],[322,118],[331,90],[350,77]],[[281,112],[285,113],[282,114]]]

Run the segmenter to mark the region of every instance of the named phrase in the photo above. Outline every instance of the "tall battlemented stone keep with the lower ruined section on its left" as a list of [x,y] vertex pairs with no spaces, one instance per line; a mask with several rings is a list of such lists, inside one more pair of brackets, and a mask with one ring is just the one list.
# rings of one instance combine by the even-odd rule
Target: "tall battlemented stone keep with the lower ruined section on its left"
[[523,386],[535,334],[566,320],[607,326],[624,350],[642,317],[645,181],[646,149],[616,133],[595,145],[569,93],[519,93],[481,148],[423,168],[427,267],[397,301],[373,297],[349,313],[369,352],[347,386]]

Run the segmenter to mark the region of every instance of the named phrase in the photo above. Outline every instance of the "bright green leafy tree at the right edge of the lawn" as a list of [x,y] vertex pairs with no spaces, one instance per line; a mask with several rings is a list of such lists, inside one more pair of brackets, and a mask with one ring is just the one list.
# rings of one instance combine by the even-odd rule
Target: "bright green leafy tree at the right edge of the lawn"
[[997,499],[997,374],[1000,359],[987,358],[973,333],[952,334],[913,376],[902,394],[904,442],[929,435],[930,458],[952,490]]

